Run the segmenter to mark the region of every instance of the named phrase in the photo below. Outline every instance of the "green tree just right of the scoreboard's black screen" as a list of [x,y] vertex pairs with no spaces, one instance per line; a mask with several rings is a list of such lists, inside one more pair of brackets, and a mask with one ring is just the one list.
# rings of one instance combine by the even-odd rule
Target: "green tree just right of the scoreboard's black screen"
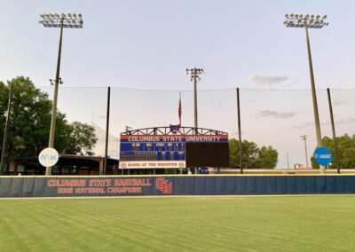
[[[239,141],[229,140],[230,167],[240,166]],[[274,169],[278,162],[278,152],[272,146],[258,148],[256,143],[244,140],[241,142],[241,165],[243,169]]]

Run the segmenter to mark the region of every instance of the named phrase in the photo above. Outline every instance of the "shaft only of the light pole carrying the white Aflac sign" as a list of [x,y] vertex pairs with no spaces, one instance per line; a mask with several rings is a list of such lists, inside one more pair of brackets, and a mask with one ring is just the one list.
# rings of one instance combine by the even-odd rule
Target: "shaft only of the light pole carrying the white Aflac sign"
[[[58,60],[57,60],[57,72],[56,79],[54,83],[54,97],[53,106],[51,107],[51,130],[50,130],[50,140],[48,143],[49,148],[54,147],[54,134],[57,118],[57,99],[58,99],[58,87],[59,87],[59,71],[60,71],[60,57],[61,57],[61,43],[63,38],[63,19],[60,20],[60,36],[59,36],[59,50],[58,50]],[[45,169],[45,175],[51,175],[51,167]]]

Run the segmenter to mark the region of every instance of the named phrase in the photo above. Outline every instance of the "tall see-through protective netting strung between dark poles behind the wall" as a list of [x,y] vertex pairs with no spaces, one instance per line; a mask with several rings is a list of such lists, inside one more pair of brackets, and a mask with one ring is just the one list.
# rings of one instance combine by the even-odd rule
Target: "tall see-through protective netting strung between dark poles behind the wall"
[[[52,98],[52,87],[41,88]],[[131,129],[178,124],[193,127],[193,91],[147,91],[111,88],[108,155],[119,156],[119,136]],[[355,90],[331,90],[336,135],[355,133]],[[305,164],[304,140],[310,157],[316,147],[311,90],[240,90],[241,138],[279,153],[278,168]],[[327,91],[317,90],[322,137],[332,137]],[[198,91],[198,127],[222,130],[238,138],[236,90]],[[107,88],[59,87],[58,109],[69,122],[93,125],[99,141],[94,152],[105,154]],[[288,154],[288,158],[287,158]]]

